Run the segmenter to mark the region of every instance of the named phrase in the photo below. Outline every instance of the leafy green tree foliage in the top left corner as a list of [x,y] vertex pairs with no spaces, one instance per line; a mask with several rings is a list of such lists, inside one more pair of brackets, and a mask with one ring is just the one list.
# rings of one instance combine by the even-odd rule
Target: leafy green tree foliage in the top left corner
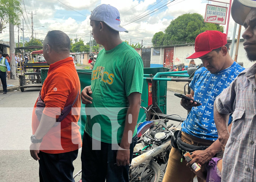
[[20,0],[1,0],[0,1],[0,33],[6,28],[9,21],[14,25],[20,24],[22,8]]

